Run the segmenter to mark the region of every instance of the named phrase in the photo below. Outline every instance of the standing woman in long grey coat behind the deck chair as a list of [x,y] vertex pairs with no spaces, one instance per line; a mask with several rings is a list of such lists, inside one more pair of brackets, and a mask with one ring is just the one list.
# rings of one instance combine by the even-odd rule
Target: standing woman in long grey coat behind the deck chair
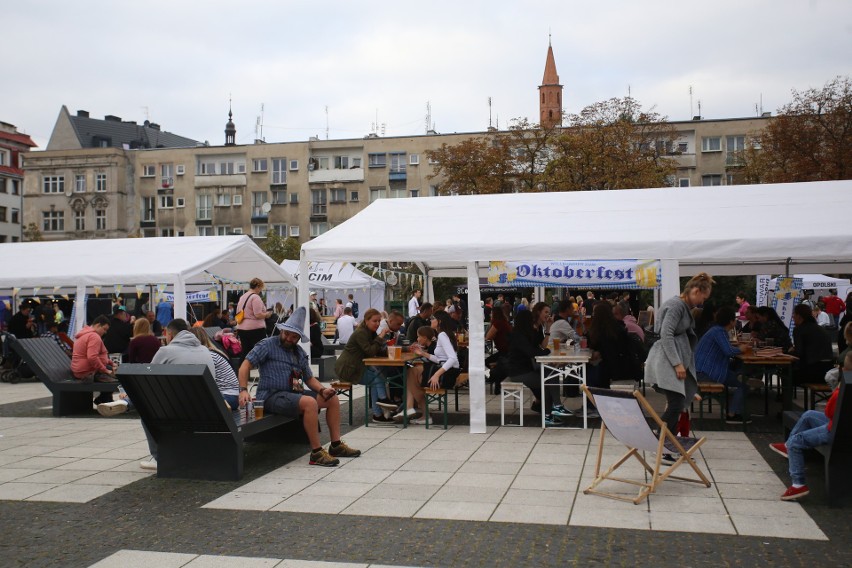
[[645,361],[645,382],[666,396],[661,418],[670,432],[677,431],[680,413],[698,393],[695,371],[695,320],[692,308],[707,301],[716,282],[706,272],[696,274],[683,287],[680,296],[660,306],[654,325],[660,339],[651,347]]

